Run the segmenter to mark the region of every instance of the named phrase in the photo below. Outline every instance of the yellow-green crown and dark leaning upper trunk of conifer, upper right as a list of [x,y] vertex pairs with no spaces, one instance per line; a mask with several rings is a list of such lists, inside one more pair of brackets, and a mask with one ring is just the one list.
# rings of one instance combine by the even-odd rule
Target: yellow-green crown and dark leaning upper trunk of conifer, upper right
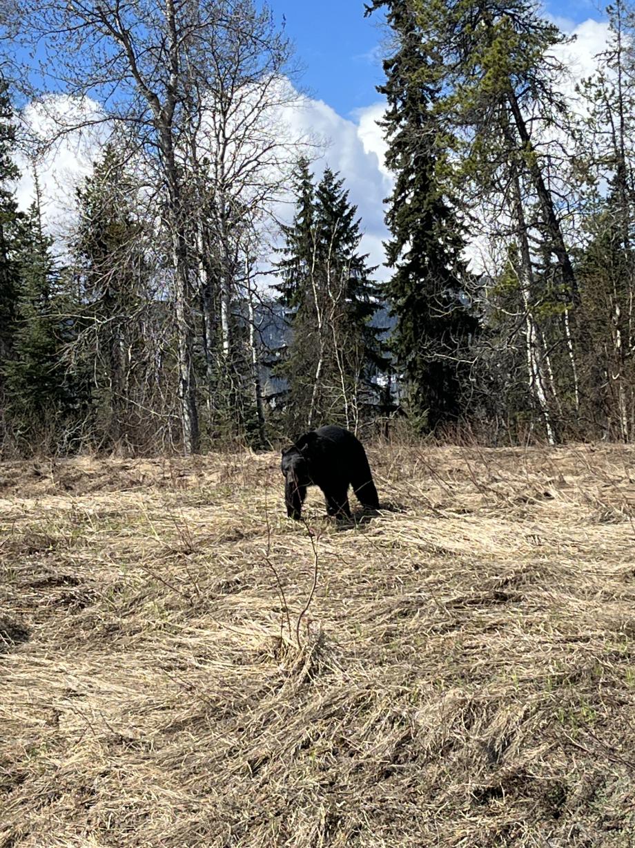
[[[554,56],[567,37],[540,17],[533,0],[410,5],[416,6],[426,52],[435,57],[420,64],[417,79],[438,86],[435,109],[459,154],[457,178],[492,193],[499,189],[497,175],[509,181],[510,170],[519,171],[533,202],[527,218],[535,219],[540,247],[555,260],[559,283],[575,300],[577,281],[549,188],[555,153],[544,152],[533,135],[538,116],[543,130],[560,130],[568,120],[566,99],[555,86],[564,66]],[[557,165],[562,173],[566,155]]]

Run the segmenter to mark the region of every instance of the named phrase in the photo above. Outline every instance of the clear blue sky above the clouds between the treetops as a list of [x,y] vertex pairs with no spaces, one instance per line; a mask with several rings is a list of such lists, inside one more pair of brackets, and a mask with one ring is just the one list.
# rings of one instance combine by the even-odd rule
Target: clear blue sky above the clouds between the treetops
[[[363,0],[269,0],[276,19],[286,18],[304,66],[302,82],[312,97],[324,100],[341,115],[376,103],[375,86],[383,80],[378,60],[382,33],[377,13],[364,18]],[[588,18],[603,20],[603,3],[595,0],[551,0],[546,12],[568,29]]]

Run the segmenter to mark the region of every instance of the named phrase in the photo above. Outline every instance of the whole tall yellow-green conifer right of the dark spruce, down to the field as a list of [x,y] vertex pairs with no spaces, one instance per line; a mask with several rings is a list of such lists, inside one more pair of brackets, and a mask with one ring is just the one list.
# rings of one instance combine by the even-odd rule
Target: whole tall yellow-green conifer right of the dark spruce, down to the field
[[436,60],[432,72],[422,66],[417,81],[432,80],[439,88],[435,113],[451,140],[450,176],[472,235],[495,240],[500,259],[505,248],[517,248],[515,311],[527,321],[522,334],[512,332],[500,346],[522,343],[527,349],[525,384],[545,435],[555,442],[580,426],[584,332],[564,228],[570,210],[561,190],[571,158],[544,143],[569,124],[556,85],[565,70],[557,48],[567,38],[540,16],[533,0],[413,5]]

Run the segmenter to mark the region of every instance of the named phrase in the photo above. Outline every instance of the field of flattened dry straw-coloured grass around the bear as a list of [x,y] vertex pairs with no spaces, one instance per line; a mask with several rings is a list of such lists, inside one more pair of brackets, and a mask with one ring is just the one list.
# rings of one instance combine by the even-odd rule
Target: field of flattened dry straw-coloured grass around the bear
[[0,466],[1,848],[635,846],[635,450],[369,455]]

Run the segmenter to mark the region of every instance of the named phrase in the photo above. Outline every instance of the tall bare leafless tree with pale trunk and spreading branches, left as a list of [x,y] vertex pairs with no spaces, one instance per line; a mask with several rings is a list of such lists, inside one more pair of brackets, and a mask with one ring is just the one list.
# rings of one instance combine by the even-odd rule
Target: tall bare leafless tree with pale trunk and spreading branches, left
[[[207,287],[218,284],[226,309],[229,283],[226,263],[207,261],[214,246],[206,241],[202,226],[192,226],[192,221],[210,208],[210,200],[213,209],[220,209],[213,237],[220,242],[216,249],[221,259],[226,259],[222,253],[230,236],[230,204],[224,191],[236,179],[243,186],[257,185],[262,148],[260,155],[254,152],[245,126],[250,126],[252,115],[272,105],[268,92],[286,67],[288,44],[275,31],[268,8],[257,11],[251,0],[25,0],[16,11],[23,39],[37,42],[39,54],[45,56],[41,91],[52,85],[54,76],[56,90],[63,86],[66,95],[81,103],[86,98],[97,101],[84,124],[99,122],[124,131],[131,155],[145,170],[148,202],[155,205],[169,243],[183,448],[186,453],[196,451],[200,292],[202,282]],[[69,130],[68,115],[60,112],[56,98],[43,98],[41,108],[48,110],[58,133]],[[246,125],[240,121],[241,110]],[[210,143],[209,128],[217,126],[215,122],[219,130]],[[238,148],[241,170],[231,170],[227,156]],[[209,175],[219,161],[224,165],[210,187]],[[197,181],[195,176],[202,174],[202,182]],[[209,279],[212,268],[220,269],[224,282]]]

